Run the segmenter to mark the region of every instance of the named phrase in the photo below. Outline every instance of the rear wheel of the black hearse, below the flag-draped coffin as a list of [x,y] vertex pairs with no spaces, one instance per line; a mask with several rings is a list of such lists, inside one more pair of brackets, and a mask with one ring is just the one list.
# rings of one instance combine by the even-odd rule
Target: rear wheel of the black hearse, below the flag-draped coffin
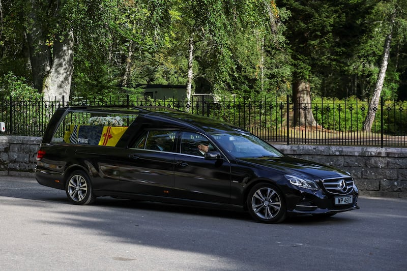
[[82,170],[72,172],[65,184],[65,191],[73,204],[89,205],[95,201],[91,180]]

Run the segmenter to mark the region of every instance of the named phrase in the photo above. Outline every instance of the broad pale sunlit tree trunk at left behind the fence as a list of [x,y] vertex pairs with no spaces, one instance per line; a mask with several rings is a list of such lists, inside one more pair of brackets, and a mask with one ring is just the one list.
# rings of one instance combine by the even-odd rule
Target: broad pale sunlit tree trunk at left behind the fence
[[61,39],[54,41],[52,67],[45,77],[42,92],[44,98],[62,101],[62,96],[65,96],[65,101],[69,101],[73,74],[73,32]]

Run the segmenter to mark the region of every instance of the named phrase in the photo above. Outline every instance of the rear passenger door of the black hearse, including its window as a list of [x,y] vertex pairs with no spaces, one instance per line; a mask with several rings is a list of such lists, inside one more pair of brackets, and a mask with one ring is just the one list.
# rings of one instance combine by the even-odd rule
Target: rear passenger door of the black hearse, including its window
[[[167,130],[146,131],[134,145],[123,150],[120,166],[123,192],[173,196],[175,134],[175,131]],[[158,146],[159,142],[161,146]]]

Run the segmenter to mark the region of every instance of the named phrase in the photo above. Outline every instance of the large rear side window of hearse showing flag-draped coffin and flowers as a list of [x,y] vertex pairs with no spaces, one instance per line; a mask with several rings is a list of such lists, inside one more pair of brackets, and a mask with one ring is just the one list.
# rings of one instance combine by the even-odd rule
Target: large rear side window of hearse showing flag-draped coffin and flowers
[[56,129],[51,142],[115,146],[137,115],[70,111]]

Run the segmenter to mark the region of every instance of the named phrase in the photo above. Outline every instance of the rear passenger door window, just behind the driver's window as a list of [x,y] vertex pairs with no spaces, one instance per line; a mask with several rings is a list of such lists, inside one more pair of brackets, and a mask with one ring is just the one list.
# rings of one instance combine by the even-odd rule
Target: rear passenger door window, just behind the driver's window
[[175,131],[151,130],[146,131],[134,145],[135,148],[159,150],[161,152],[172,152]]

